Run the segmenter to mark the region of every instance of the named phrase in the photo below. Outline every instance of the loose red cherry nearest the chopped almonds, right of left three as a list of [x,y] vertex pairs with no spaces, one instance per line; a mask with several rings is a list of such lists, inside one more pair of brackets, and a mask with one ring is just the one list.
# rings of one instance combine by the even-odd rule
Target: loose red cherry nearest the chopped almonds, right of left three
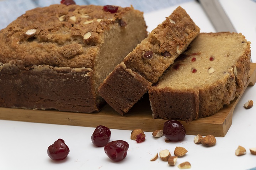
[[104,151],[110,159],[118,162],[126,157],[128,148],[129,144],[126,141],[118,140],[108,143],[104,147]]

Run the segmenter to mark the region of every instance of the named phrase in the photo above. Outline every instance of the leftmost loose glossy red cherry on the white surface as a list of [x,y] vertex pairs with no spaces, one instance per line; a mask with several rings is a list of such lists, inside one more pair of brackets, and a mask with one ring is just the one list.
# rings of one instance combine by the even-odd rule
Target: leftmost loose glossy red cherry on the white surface
[[69,147],[66,146],[64,140],[58,139],[48,147],[47,154],[53,160],[63,160],[69,154]]

